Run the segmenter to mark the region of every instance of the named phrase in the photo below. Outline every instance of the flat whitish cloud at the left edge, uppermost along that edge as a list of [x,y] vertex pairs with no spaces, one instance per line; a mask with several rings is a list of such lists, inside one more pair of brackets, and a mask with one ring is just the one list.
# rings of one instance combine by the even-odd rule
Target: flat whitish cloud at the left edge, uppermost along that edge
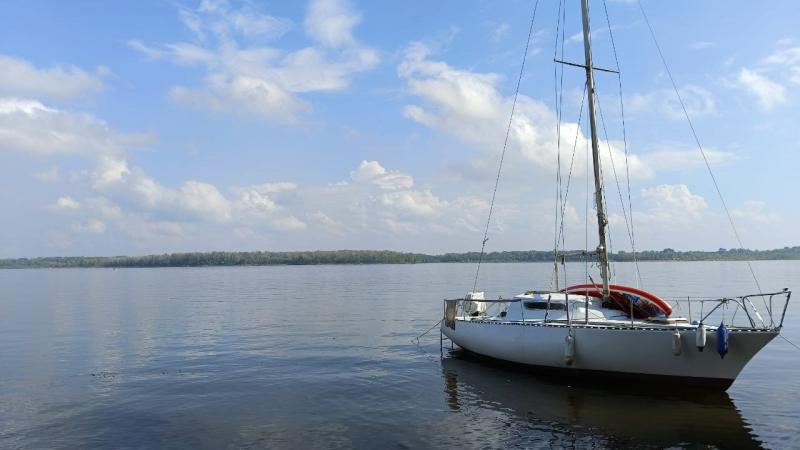
[[100,68],[91,74],[72,65],[40,69],[24,59],[0,55],[0,96],[74,99],[102,91],[107,72]]

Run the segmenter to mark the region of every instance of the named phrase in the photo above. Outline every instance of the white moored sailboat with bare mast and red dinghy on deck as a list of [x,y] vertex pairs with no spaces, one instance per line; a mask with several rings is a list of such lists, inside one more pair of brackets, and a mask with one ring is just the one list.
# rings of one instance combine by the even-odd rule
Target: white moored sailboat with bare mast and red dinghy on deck
[[[673,315],[672,305],[654,293],[610,282],[589,0],[581,0],[581,15],[585,62],[570,65],[586,72],[599,244],[580,256],[596,258],[601,282],[498,300],[486,299],[484,292],[473,288],[464,298],[444,301],[441,333],[466,352],[534,371],[602,377],[612,384],[643,382],[724,391],[779,335],[791,291],[698,300],[700,317],[690,320]],[[571,256],[557,254],[556,273],[558,262],[563,265]],[[732,314],[724,314],[731,310]]]

